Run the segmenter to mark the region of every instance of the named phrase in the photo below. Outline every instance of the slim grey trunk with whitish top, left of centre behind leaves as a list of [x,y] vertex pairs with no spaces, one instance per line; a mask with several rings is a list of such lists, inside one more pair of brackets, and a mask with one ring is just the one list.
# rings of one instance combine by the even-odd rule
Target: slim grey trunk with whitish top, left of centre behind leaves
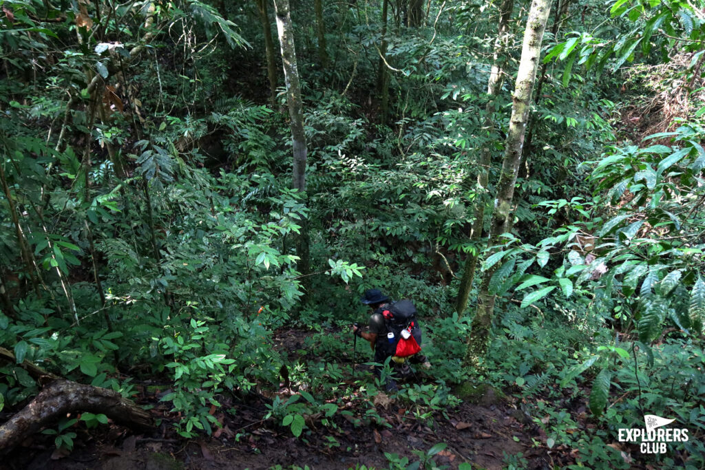
[[[289,0],[274,0],[276,10],[276,29],[279,33],[281,58],[284,65],[286,82],[286,101],[289,107],[291,139],[293,141],[293,181],[292,187],[305,195],[306,192],[306,135],[301,104],[301,85],[296,67],[296,49],[294,47],[293,27],[289,13]],[[296,243],[299,256],[298,271],[306,276],[309,273],[309,237],[307,222],[302,221],[300,236]],[[307,280],[307,277],[303,279]],[[304,282],[307,287],[307,281]]]

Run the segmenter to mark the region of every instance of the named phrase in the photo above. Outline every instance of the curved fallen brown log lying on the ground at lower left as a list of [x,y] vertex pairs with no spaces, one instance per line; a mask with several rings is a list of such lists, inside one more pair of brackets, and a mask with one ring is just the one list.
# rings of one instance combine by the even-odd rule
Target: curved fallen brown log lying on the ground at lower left
[[0,426],[0,454],[7,454],[27,436],[73,412],[102,413],[130,428],[154,426],[149,413],[118,392],[59,379],[47,385],[30,404]]

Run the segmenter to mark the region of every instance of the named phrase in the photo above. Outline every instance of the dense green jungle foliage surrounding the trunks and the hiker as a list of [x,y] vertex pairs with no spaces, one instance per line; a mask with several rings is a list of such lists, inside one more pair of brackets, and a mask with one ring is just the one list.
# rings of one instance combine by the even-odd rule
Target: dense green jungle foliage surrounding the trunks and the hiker
[[[485,248],[470,230],[477,207],[494,201],[512,102],[508,77],[495,126],[484,127],[497,5],[431,2],[425,23],[407,27],[403,2],[391,2],[379,125],[381,6],[325,6],[321,68],[313,7],[294,2],[310,149],[303,195],[289,189],[288,117],[264,105],[254,2],[154,12],[1,3],[0,345],[17,364],[0,364],[0,409],[37,393],[26,359],[125,397],[158,380],[185,437],[214,431],[223,400],[254,394],[269,397],[266,426],[297,438],[344,420],[388,427],[372,404],[382,382],[351,381],[349,327],[367,320],[359,297],[369,287],[419,309],[432,368],[413,366],[419,383],[398,394],[404,419],[434,426],[458,404],[449,386],[476,371],[462,364],[472,318],[453,313],[453,299],[465,254]],[[489,290],[501,311],[484,379],[546,433],[536,447],[627,468],[608,444],[646,412],[705,431],[703,28],[687,2],[616,1],[608,23],[602,7],[570,6],[547,39],[513,229],[482,263],[496,268]],[[510,22],[515,39],[521,23]],[[510,41],[512,77],[518,46]],[[673,49],[687,60],[669,62],[661,80],[651,67]],[[618,68],[633,72],[610,74]],[[653,82],[689,84],[679,95],[689,107],[673,122],[637,110],[664,120],[642,142],[628,106],[660,102]],[[487,187],[477,184],[482,149],[493,155]],[[305,220],[304,304],[294,246]],[[357,373],[372,359],[362,346]],[[272,395],[286,382],[288,400]],[[71,421],[45,431],[57,446],[77,438]],[[78,424],[103,422],[84,414]],[[441,450],[418,450],[412,465],[430,468]],[[697,466],[704,452],[693,438],[638,462]],[[528,454],[504,463],[524,468]]]

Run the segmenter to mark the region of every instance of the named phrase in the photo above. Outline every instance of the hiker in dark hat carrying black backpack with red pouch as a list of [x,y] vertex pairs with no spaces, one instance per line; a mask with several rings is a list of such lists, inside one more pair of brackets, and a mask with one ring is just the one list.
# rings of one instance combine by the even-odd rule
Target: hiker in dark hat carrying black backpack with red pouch
[[[431,364],[427,361],[423,354],[418,351],[421,346],[421,328],[419,328],[414,314],[416,309],[409,300],[401,300],[400,302],[391,302],[391,299],[384,295],[379,289],[368,289],[364,291],[364,295],[360,299],[363,304],[369,305],[372,309],[372,316],[369,317],[368,331],[362,331],[362,328],[353,325],[353,334],[360,336],[369,341],[370,347],[374,350],[374,361],[378,364],[384,364],[388,357],[392,357],[390,364],[394,370],[402,377],[409,376],[411,369],[407,361],[412,364],[423,364],[428,369]],[[403,317],[403,319],[396,319]],[[406,330],[406,331],[402,331]],[[391,338],[389,335],[392,335]],[[396,355],[398,343],[409,338],[410,342],[414,342],[417,346],[417,352],[407,357],[399,357]],[[400,354],[407,354],[401,352]],[[376,376],[381,375],[381,366],[374,367]],[[396,391],[396,382],[390,378],[386,383],[387,391]]]

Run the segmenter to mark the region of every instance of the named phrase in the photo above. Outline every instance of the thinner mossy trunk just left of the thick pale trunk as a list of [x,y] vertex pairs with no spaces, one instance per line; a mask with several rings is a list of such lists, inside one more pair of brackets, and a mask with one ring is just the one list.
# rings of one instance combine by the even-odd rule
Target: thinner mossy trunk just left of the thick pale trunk
[[[500,6],[500,16],[499,16],[499,30],[497,33],[497,39],[494,42],[494,56],[492,58],[492,70],[489,75],[489,81],[487,82],[487,106],[485,108],[485,120],[484,128],[487,130],[488,135],[492,135],[494,130],[494,113],[496,110],[495,97],[502,87],[503,77],[503,66],[506,61],[506,49],[510,39],[509,32],[509,20],[512,16],[512,11],[514,9],[514,0],[503,0]],[[487,190],[487,185],[489,183],[489,170],[492,164],[492,152],[489,145],[485,145],[482,148],[480,154],[480,172],[477,175],[477,187],[482,188],[482,191]],[[485,201],[484,198],[480,199],[477,204],[477,209],[475,210],[475,221],[472,223],[472,232],[470,233],[470,241],[474,245],[479,245],[478,240],[482,237],[482,228],[484,227],[484,212],[485,212]],[[467,307],[467,297],[470,295],[470,289],[472,289],[472,282],[475,277],[475,269],[477,268],[477,259],[479,258],[479,250],[475,253],[470,253],[467,255],[467,260],[465,261],[465,272],[462,274],[462,279],[460,280],[460,287],[458,287],[458,298],[455,299],[455,311],[458,315],[462,314]]]

